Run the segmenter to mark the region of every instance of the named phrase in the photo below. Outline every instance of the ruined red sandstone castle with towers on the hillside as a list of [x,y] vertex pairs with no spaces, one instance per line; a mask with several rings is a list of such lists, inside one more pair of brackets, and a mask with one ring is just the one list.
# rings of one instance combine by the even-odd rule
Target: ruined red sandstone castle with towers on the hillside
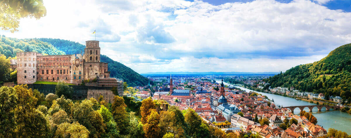
[[86,41],[83,55],[42,55],[37,52],[16,54],[18,84],[65,81],[79,85],[83,80],[110,77],[108,63],[100,62],[99,41]]

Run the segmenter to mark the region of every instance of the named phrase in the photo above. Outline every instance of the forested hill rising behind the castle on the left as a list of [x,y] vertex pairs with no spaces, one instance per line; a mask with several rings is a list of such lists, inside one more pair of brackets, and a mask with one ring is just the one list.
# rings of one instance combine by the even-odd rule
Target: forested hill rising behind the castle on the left
[[[64,55],[74,54],[84,51],[85,46],[78,43],[62,39],[52,38],[31,38],[31,39],[17,39],[0,36],[0,54],[8,57],[15,57],[16,52],[34,51],[48,55]],[[111,77],[123,79],[129,86],[145,86],[148,79],[141,76],[131,68],[101,55],[101,62],[108,64],[108,70],[111,72]],[[151,82],[152,83],[152,82]]]

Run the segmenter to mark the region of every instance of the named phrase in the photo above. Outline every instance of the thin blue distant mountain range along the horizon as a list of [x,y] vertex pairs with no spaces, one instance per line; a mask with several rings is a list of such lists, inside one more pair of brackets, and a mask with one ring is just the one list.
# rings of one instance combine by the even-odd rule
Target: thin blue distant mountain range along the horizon
[[152,74],[201,74],[201,75],[226,75],[226,74],[279,74],[280,72],[148,72],[141,75]]

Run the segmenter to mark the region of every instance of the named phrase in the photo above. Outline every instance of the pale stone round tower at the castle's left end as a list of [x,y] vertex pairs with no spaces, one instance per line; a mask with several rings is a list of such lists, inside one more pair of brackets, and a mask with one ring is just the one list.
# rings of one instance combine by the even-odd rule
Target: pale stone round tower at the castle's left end
[[32,84],[37,81],[37,52],[18,52],[17,55],[17,83]]

